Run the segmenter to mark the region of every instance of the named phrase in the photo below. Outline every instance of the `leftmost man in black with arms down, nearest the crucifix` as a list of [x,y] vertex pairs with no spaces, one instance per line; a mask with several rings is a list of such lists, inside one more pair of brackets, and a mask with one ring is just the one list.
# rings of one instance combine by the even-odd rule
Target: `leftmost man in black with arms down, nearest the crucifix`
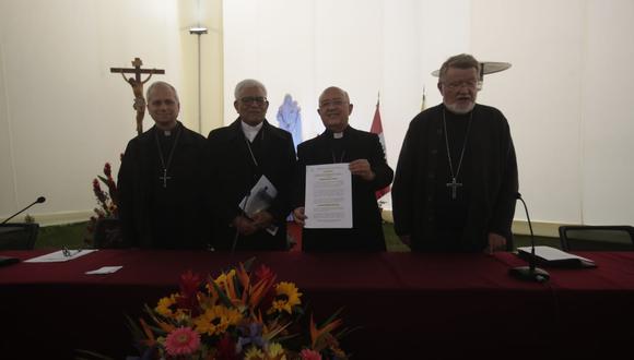
[[118,176],[124,242],[206,249],[211,215],[204,136],[177,121],[180,103],[168,83],[153,83],[146,98],[154,125],[128,143]]

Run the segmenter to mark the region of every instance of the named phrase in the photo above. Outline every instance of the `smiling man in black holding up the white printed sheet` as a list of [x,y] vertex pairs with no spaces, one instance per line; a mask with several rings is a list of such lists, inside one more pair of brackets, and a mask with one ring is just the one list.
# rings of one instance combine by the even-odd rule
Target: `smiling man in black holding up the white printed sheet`
[[394,177],[377,134],[348,124],[352,112],[348,93],[328,87],[319,96],[317,112],[326,127],[319,136],[297,146],[297,183],[293,211],[295,221],[304,225],[306,166],[349,163],[352,173],[352,228],[302,230],[304,251],[385,251],[380,211],[375,192]]

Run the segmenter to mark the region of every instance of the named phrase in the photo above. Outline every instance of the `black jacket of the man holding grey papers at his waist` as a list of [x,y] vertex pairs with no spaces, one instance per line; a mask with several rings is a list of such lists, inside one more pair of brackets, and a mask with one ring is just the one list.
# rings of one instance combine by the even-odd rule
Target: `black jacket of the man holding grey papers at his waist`
[[278,196],[268,209],[278,226],[275,236],[266,230],[251,236],[240,236],[239,250],[285,250],[286,216],[291,211],[291,185],[295,172],[295,146],[291,133],[263,121],[253,143],[249,143],[257,165],[254,163],[239,118],[228,127],[212,130],[208,136],[213,207],[215,213],[214,247],[232,248],[236,229],[233,219],[242,214],[238,204],[265,175],[278,190]]

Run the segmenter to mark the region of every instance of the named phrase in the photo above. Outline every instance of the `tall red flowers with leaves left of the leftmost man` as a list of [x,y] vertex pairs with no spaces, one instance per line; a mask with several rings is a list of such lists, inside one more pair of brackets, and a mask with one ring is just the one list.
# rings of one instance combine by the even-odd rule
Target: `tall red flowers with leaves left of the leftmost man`
[[[94,208],[95,215],[91,216],[87,225],[89,237],[84,239],[86,243],[93,243],[93,237],[96,228],[97,220],[104,218],[117,218],[118,217],[118,190],[115,179],[113,179],[113,170],[110,164],[106,163],[104,165],[104,176],[97,176],[93,179],[93,193],[97,199],[97,207]],[[107,192],[102,190],[99,181],[106,185]],[[110,235],[109,238],[119,239],[118,235]],[[113,240],[114,241],[114,240]],[[118,240],[117,240],[118,241]]]

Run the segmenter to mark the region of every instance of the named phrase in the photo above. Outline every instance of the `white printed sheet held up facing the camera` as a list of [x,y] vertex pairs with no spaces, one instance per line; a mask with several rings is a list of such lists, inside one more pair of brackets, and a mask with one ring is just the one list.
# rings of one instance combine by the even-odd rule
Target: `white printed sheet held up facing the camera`
[[305,228],[352,228],[352,173],[349,164],[306,166]]

